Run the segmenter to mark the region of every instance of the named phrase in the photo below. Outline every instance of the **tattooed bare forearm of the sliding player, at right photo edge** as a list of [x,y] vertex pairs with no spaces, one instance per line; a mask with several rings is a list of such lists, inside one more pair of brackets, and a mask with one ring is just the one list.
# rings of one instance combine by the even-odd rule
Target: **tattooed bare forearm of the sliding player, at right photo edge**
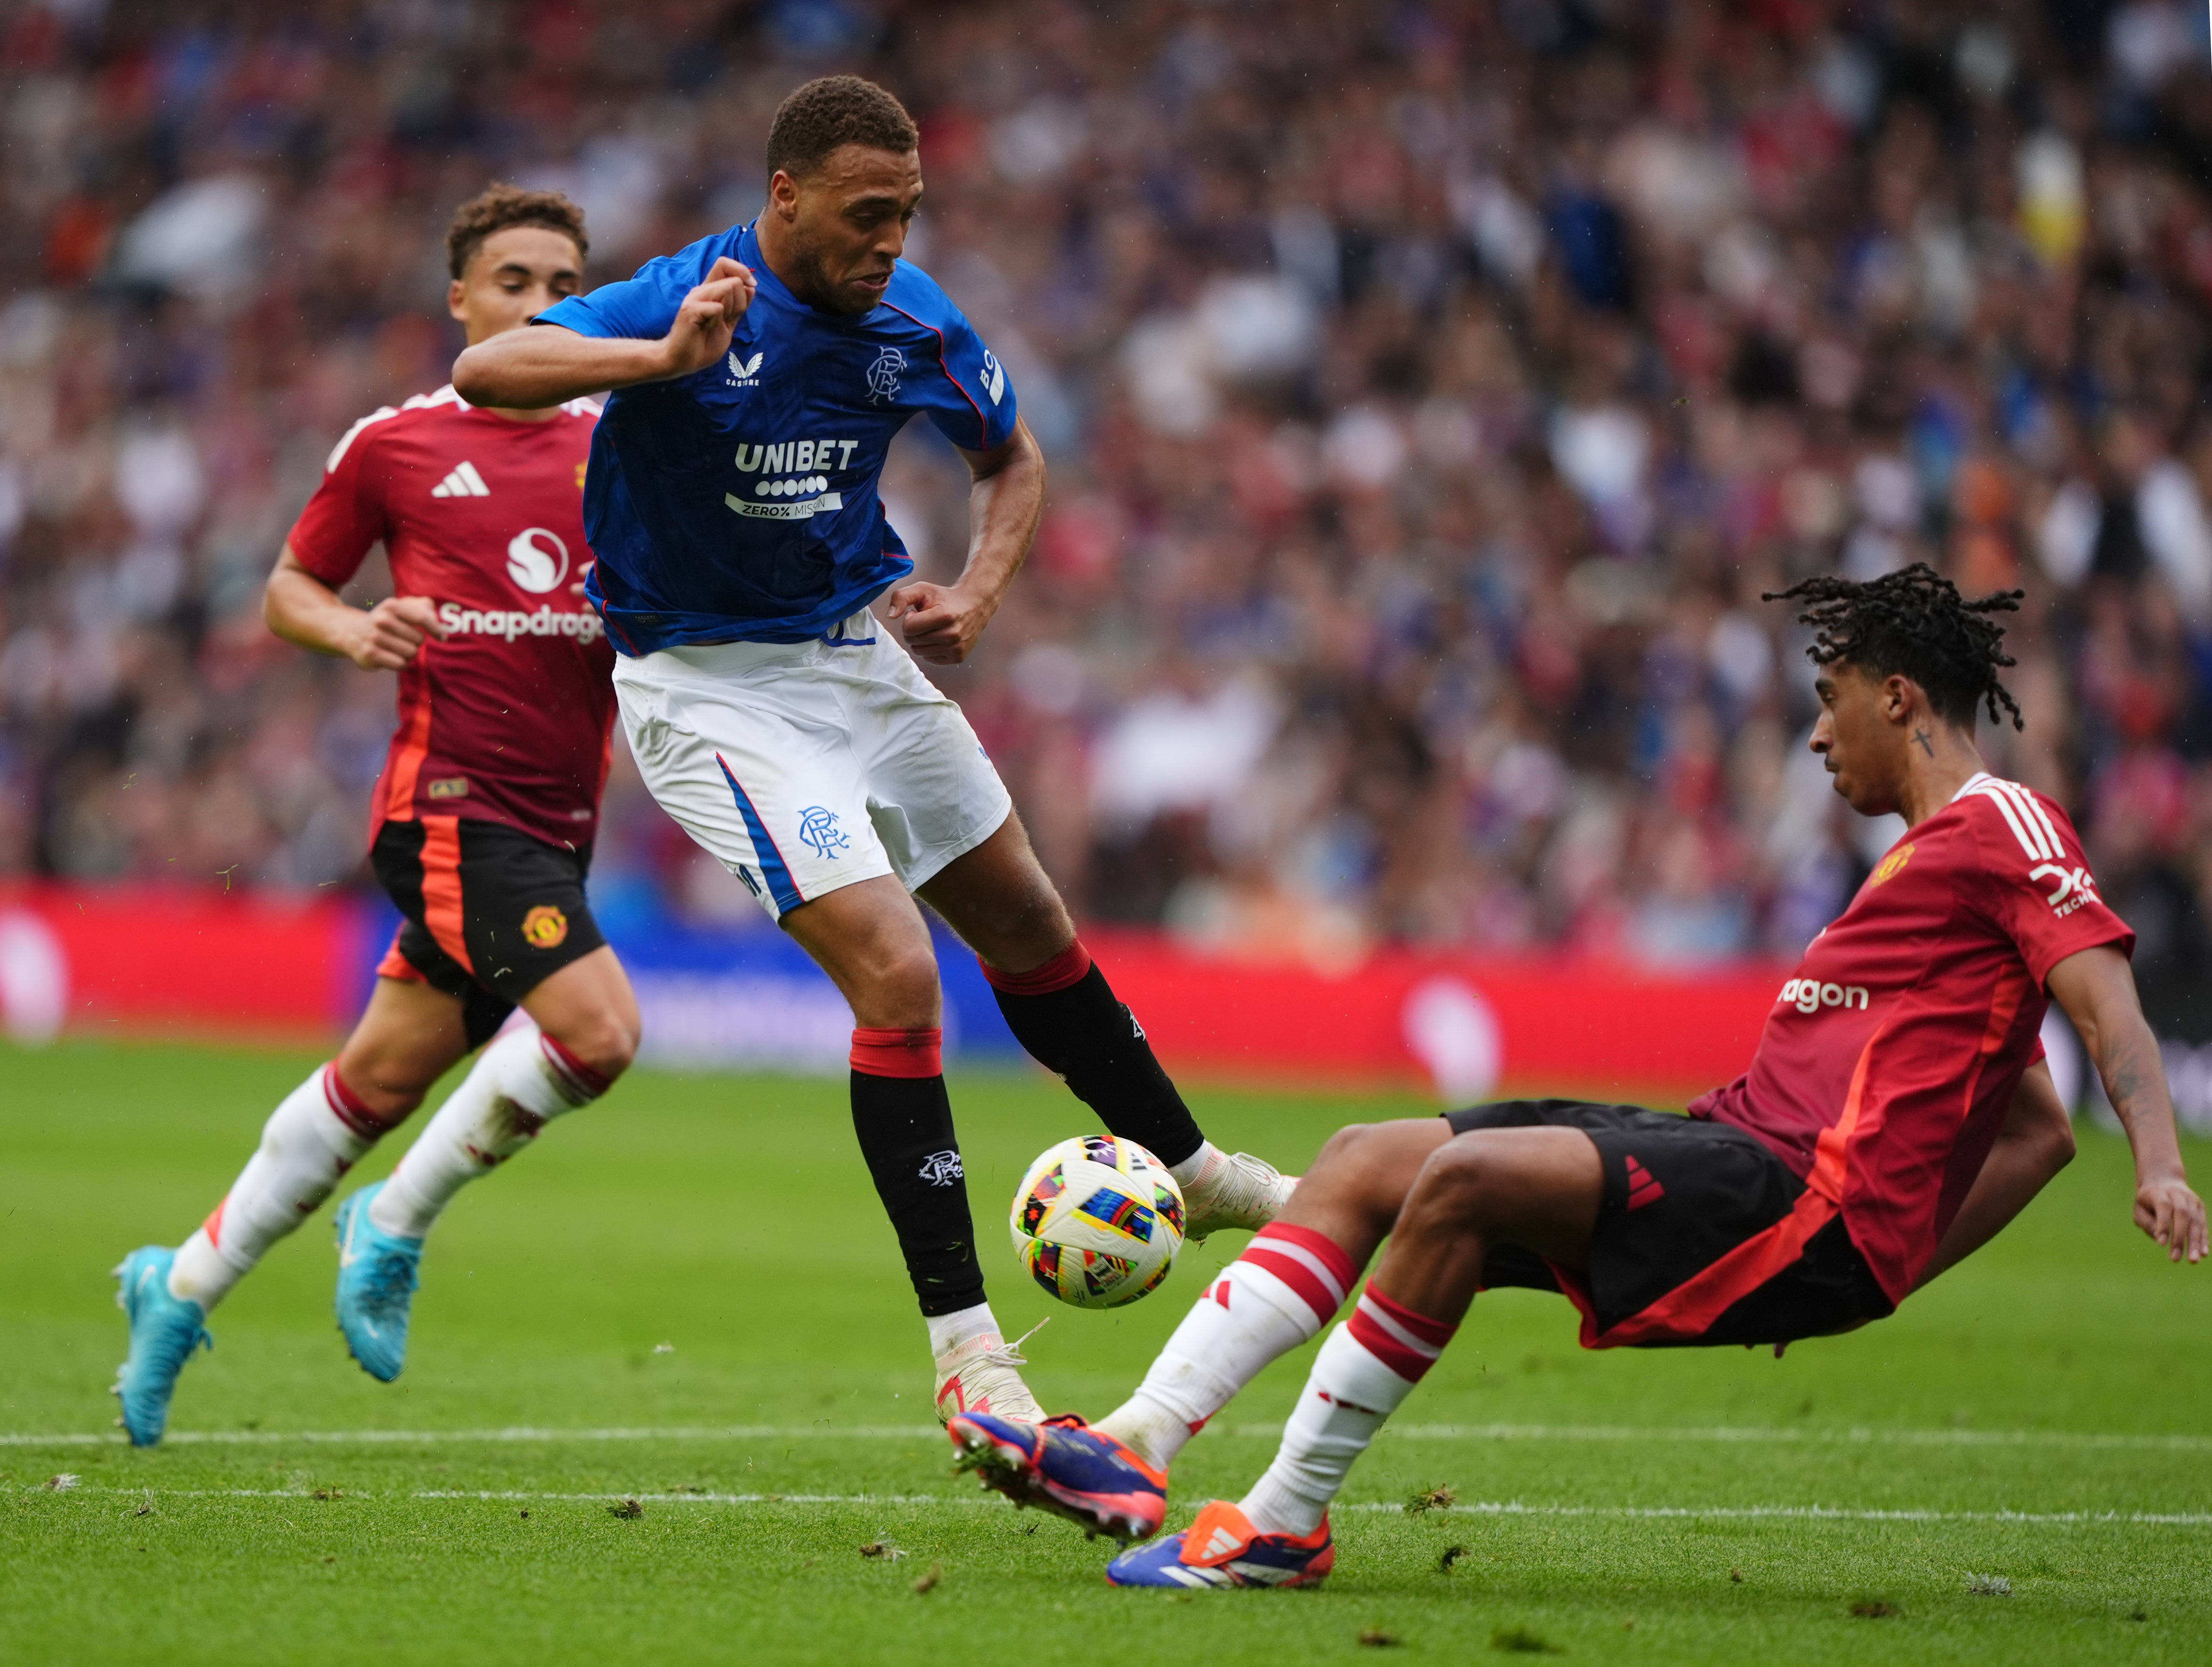
[[2051,995],[2097,1061],[2104,1092],[2128,1130],[2135,1152],[2135,1225],[2166,1247],[2172,1260],[2205,1256],[2205,1205],[2190,1192],[2174,1136],[2174,1103],[2166,1092],[2159,1039],[2135,999],[2135,975],[2117,948],[2068,955],[2051,968]]

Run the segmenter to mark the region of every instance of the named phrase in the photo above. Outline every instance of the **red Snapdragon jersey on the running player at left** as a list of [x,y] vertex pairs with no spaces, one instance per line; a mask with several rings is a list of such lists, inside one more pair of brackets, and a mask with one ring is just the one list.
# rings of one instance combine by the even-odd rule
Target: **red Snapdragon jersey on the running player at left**
[[436,601],[447,630],[400,670],[372,838],[416,816],[593,838],[615,716],[615,654],[582,597],[597,416],[571,400],[518,422],[445,387],[363,418],[332,449],[292,555],[336,586],[383,539],[396,593]]

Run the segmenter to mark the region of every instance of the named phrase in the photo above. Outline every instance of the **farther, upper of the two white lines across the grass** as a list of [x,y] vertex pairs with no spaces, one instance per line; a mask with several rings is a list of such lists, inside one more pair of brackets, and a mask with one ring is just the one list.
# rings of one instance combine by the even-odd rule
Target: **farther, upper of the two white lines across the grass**
[[[1217,1426],[1219,1428],[1219,1426]],[[1234,1424],[1228,1435],[1274,1439],[1279,1424]],[[429,1446],[500,1441],[916,1441],[938,1435],[933,1424],[728,1424],[672,1428],[540,1428],[491,1430],[170,1430],[168,1446]],[[1880,1430],[1774,1428],[1759,1424],[1637,1426],[1637,1424],[1400,1424],[1389,1435],[1409,1441],[1699,1441],[1759,1446],[1907,1446],[1907,1448],[2081,1448],[2139,1453],[2212,1453],[2212,1435],[2132,1435],[2101,1430]],[[122,1446],[115,1430],[53,1435],[0,1433],[0,1448]]]

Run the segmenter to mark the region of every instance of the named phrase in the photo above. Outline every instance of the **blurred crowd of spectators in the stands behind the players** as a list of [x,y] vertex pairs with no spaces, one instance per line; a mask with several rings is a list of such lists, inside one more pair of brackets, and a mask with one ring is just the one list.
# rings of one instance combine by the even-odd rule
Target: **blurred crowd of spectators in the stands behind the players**
[[[909,254],[1053,464],[942,677],[1091,920],[1792,955],[1891,829],[1761,601],[2017,586],[2024,734],[2166,1035],[2212,1039],[2212,46],[2020,0],[44,0],[0,11],[0,876],[365,882],[387,677],[261,626],[440,234],[591,281],[750,217],[799,80],[922,126]],[[885,482],[964,546],[927,433]],[[363,595],[374,595],[374,579]],[[617,767],[608,911],[754,920]]]

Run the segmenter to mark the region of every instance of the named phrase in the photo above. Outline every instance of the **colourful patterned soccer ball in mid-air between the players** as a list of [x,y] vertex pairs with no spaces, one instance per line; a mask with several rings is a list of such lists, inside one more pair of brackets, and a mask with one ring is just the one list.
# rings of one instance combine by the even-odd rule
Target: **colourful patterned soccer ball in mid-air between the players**
[[1077,1309],[1119,1309],[1168,1278],[1183,1249],[1183,1189],[1135,1141],[1086,1134],[1029,1165],[1013,1194],[1013,1254]]

